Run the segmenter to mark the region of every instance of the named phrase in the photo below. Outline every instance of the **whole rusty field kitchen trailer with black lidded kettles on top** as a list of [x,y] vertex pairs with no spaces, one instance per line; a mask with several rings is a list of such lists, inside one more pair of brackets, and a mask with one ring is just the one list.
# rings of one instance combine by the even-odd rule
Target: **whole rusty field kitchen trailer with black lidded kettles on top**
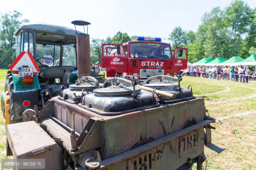
[[[148,84],[152,79],[160,82]],[[61,87],[40,112],[26,110],[23,123],[7,126],[7,156],[46,159],[55,170],[187,170],[195,162],[201,170],[204,146],[224,150],[211,143],[215,119],[206,115],[203,98],[182,89],[180,76],[138,80],[99,84],[82,76]]]

